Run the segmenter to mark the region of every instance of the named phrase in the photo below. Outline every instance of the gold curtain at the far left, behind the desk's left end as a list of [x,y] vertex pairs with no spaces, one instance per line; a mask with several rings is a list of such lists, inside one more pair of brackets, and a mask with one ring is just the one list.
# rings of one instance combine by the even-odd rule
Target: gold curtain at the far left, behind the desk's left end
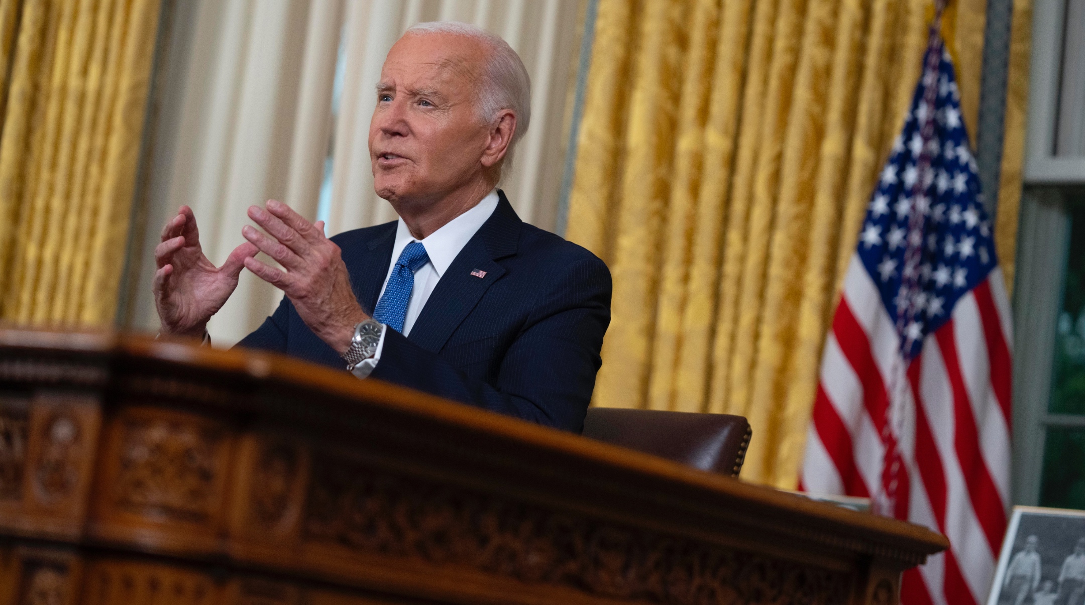
[[0,319],[108,325],[162,0],[0,0]]

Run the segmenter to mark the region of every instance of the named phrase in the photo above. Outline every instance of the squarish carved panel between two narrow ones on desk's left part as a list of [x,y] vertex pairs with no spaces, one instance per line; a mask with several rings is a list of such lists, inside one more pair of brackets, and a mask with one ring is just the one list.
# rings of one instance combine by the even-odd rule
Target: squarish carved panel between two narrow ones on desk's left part
[[120,451],[117,503],[206,520],[215,506],[215,478],[222,436],[195,423],[164,419],[127,421]]

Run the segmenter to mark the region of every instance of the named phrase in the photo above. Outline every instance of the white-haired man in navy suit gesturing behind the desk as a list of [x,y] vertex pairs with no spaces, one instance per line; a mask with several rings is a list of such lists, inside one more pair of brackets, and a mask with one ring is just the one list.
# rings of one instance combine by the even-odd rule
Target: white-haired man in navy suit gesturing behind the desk
[[240,346],[579,432],[611,279],[496,189],[529,113],[527,72],[503,40],[464,24],[410,28],[385,59],[369,128],[374,189],[399,220],[328,239],[269,201],[248,208],[264,231],[242,229],[247,242],[216,268],[182,207],[155,250],[163,334],[205,337],[246,268],[285,297]]

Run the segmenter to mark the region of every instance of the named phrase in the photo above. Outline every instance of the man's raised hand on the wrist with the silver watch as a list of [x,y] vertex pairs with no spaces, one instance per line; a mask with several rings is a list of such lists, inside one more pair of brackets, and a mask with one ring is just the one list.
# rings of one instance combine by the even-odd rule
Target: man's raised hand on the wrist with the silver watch
[[323,221],[310,223],[275,199],[268,199],[266,209],[250,206],[248,218],[267,234],[247,224],[241,234],[285,271],[252,257],[245,259],[245,268],[286,293],[305,325],[340,355],[346,352],[354,326],[369,316],[350,288],[340,247],[324,236]]

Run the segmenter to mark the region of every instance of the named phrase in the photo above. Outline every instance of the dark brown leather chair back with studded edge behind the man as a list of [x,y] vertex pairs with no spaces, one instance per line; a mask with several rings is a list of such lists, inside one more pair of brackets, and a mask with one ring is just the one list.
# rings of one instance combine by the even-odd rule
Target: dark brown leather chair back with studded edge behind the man
[[742,416],[589,408],[584,436],[738,477],[753,430]]

